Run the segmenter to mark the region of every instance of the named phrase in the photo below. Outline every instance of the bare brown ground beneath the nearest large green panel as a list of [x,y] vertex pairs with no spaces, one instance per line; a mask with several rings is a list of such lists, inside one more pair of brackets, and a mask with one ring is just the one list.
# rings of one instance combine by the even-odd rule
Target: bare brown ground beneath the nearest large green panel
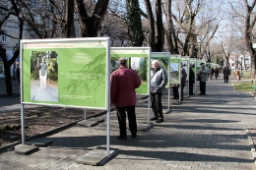
[[[87,110],[87,117],[102,111]],[[85,118],[84,109],[39,106],[26,109],[26,138]],[[0,114],[0,147],[22,140],[21,110]]]

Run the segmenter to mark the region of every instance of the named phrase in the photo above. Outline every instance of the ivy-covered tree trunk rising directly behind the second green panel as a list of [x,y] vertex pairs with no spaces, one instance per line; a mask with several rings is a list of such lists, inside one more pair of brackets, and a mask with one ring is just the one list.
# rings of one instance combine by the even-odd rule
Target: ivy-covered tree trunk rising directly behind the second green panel
[[128,35],[132,46],[142,46],[144,35],[142,30],[141,9],[138,0],[126,0]]

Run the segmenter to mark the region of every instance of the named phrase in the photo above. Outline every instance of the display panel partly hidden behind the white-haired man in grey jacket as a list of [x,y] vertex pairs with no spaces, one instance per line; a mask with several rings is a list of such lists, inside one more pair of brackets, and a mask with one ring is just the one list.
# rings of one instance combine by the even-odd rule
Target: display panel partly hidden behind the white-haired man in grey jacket
[[165,87],[169,87],[169,64],[170,64],[170,53],[169,52],[152,52],[151,63],[153,60],[160,61],[160,68],[163,68],[167,72],[168,83]]

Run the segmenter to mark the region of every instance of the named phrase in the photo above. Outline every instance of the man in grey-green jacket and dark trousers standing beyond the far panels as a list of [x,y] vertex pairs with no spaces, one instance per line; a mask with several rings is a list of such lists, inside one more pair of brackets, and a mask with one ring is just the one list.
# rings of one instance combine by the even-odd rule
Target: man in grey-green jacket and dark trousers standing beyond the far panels
[[201,70],[199,71],[199,86],[200,86],[200,95],[206,94],[206,82],[208,81],[209,70],[205,67],[205,63],[200,63]]

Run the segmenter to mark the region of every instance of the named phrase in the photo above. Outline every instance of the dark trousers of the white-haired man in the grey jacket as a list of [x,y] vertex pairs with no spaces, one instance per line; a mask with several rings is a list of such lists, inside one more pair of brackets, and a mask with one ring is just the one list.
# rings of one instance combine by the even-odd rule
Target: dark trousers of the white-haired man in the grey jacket
[[152,109],[155,117],[163,119],[162,106],[161,106],[161,93],[151,93]]

